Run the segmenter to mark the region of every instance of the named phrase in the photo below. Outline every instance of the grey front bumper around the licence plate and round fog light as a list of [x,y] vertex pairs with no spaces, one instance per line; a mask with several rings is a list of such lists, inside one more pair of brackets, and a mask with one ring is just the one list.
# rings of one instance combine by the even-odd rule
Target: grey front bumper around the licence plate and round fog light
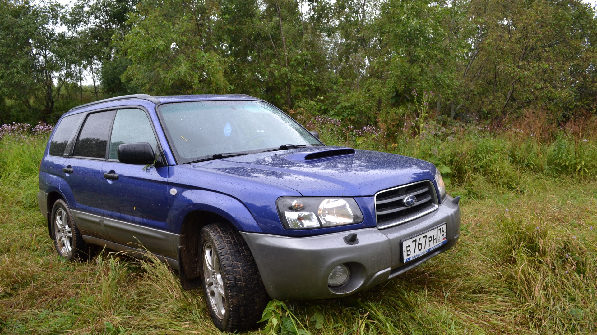
[[[460,207],[448,197],[438,210],[413,221],[385,229],[364,228],[311,237],[241,232],[257,262],[261,279],[272,299],[323,299],[345,296],[383,283],[445,250],[460,235]],[[447,244],[420,258],[402,263],[401,241],[446,223]],[[355,232],[358,244],[344,236]],[[328,275],[347,263],[350,280],[330,287]]]

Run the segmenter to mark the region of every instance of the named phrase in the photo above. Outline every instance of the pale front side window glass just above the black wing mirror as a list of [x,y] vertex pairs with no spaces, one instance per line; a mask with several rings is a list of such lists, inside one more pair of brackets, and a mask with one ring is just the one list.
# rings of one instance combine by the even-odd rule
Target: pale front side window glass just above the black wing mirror
[[140,109],[119,110],[112,128],[110,159],[118,159],[118,145],[139,142],[151,144],[153,152],[158,153],[158,141],[145,112]]

